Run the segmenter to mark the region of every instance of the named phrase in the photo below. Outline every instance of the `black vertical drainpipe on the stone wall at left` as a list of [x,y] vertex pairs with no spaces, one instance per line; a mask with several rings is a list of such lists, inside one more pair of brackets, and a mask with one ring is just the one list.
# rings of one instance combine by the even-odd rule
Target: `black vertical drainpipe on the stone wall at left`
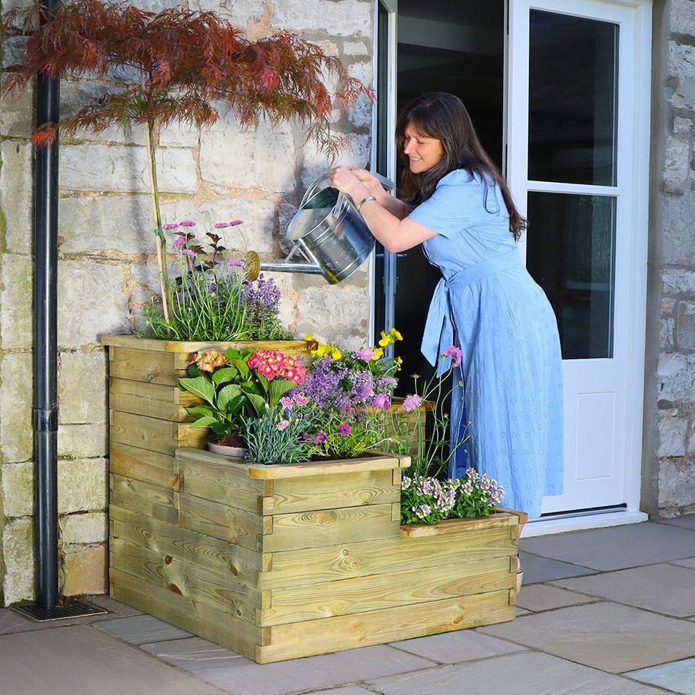
[[[51,21],[55,0],[44,0]],[[60,120],[60,80],[39,77],[36,124]],[[58,138],[36,151],[34,217],[34,499],[36,600],[58,604]]]

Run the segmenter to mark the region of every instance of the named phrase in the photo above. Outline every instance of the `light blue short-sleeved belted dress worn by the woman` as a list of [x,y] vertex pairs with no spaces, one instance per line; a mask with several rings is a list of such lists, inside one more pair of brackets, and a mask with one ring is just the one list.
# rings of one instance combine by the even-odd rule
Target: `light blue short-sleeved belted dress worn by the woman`
[[[464,387],[454,389],[451,431],[455,441],[467,418],[471,439],[450,475],[472,465],[505,489],[502,506],[536,518],[543,496],[563,489],[557,321],[521,263],[500,188],[489,183],[486,201],[484,188],[477,174],[450,172],[409,215],[438,233],[423,247],[443,276],[422,351],[433,366],[449,345],[463,351],[455,380]],[[439,373],[448,364],[441,360]]]

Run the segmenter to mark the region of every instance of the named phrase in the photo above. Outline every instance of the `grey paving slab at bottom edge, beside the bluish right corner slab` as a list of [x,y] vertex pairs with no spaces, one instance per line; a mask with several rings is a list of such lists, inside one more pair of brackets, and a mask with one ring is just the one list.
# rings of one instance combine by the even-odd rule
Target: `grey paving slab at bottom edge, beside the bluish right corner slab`
[[405,673],[368,683],[384,695],[656,695],[661,690],[539,652]]

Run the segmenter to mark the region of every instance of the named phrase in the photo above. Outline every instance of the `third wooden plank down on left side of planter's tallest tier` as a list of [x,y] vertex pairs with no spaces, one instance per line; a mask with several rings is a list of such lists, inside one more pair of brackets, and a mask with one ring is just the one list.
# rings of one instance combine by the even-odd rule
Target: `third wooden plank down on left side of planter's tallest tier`
[[204,427],[191,428],[185,423],[148,418],[120,411],[111,411],[111,441],[141,449],[174,455],[179,446],[202,448],[206,446],[208,431]]

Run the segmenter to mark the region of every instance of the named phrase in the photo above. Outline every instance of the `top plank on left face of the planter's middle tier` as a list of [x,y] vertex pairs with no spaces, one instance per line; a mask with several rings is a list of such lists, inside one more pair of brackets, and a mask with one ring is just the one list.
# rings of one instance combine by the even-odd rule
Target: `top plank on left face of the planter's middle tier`
[[179,457],[179,475],[182,493],[245,509],[253,514],[258,512],[264,481],[239,475],[222,457],[214,462]]

